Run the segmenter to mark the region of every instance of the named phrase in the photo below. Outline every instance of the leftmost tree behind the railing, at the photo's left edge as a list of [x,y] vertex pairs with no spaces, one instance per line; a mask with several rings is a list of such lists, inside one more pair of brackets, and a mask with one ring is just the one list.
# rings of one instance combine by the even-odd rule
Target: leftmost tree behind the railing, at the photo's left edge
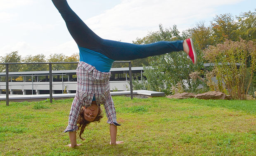
[[[2,63],[11,63],[11,62],[21,62],[21,55],[18,54],[18,51],[13,51],[6,56],[0,58]],[[9,64],[9,72],[19,71],[21,65],[20,64]],[[0,66],[0,71],[5,72],[6,66]]]

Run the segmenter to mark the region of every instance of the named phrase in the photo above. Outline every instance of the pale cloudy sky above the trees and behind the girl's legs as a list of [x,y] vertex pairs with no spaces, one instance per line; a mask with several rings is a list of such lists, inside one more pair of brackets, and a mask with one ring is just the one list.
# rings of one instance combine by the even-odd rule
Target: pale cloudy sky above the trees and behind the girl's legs
[[[216,15],[255,11],[256,0],[67,0],[103,39],[132,43],[151,31],[177,25],[180,32]],[[0,0],[0,56],[78,53],[51,0]]]

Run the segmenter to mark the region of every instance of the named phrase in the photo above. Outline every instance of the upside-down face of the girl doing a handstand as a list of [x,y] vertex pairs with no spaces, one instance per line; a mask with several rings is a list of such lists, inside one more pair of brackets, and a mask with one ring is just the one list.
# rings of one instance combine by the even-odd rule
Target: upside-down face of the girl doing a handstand
[[92,105],[90,107],[86,107],[84,111],[84,118],[88,122],[93,122],[93,120],[97,117],[99,112],[99,107],[96,104],[96,101],[92,101]]

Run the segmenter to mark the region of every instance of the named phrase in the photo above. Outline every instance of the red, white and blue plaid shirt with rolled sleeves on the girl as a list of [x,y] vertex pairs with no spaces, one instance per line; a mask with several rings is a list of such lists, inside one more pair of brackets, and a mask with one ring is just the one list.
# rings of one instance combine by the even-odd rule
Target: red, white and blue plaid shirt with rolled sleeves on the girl
[[93,96],[95,96],[98,106],[104,105],[108,118],[107,123],[119,126],[116,122],[116,110],[109,91],[110,72],[100,72],[90,64],[79,62],[76,75],[76,96],[69,113],[69,125],[64,132],[77,130],[77,120],[81,107],[91,106]]

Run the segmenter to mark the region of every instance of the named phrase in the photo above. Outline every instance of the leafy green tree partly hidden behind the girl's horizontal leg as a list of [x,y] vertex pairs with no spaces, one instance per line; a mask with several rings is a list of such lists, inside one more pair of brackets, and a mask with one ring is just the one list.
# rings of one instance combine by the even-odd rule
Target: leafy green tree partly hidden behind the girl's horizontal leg
[[[142,39],[137,38],[134,43],[150,44],[156,41],[173,41],[177,39],[183,40],[176,25],[173,28],[163,28],[160,24],[159,31],[150,32]],[[200,51],[197,46],[195,47],[197,51]],[[145,83],[147,89],[171,94],[172,86],[181,83],[186,91],[196,92],[199,82],[197,84],[192,82],[189,74],[194,70],[200,70],[202,63],[199,62],[197,66],[194,66],[186,57],[187,55],[184,52],[173,52],[151,57],[152,61],[149,65],[152,66],[152,69],[147,69],[144,73],[147,77],[147,83]],[[200,53],[198,57],[200,60]]]

